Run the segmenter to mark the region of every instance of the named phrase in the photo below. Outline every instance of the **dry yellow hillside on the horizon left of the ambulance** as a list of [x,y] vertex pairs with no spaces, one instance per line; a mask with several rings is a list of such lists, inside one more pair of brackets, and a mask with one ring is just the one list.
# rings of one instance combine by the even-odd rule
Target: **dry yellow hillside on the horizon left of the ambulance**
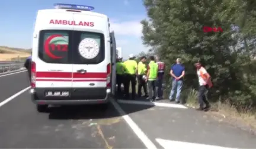
[[0,46],[0,61],[18,60],[18,57],[24,59],[30,56],[30,53],[31,49]]

